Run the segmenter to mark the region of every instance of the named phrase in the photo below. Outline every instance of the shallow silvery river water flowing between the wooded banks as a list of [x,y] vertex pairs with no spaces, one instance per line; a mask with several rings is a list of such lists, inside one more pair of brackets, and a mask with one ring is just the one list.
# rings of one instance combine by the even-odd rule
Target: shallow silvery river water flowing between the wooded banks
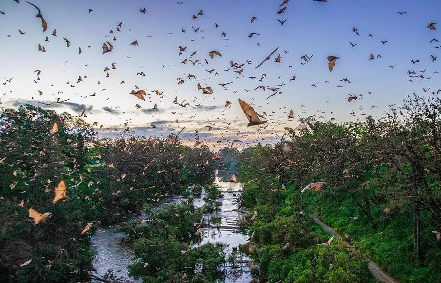
[[[240,195],[243,185],[240,182],[229,182],[230,178],[231,173],[229,172],[214,172],[214,183],[223,194],[223,197],[218,199],[222,204],[218,212],[206,214],[204,215],[204,218],[206,219],[205,222],[208,222],[208,219],[213,215],[215,217],[220,217],[220,224],[216,227],[207,227],[202,232],[201,240],[197,243],[193,243],[193,247],[206,243],[220,244],[224,248],[227,259],[233,253],[233,250],[238,250],[240,244],[245,244],[249,240],[247,234],[238,231],[238,222],[243,218],[244,212],[239,212],[237,210],[235,199]],[[195,207],[201,208],[204,206],[204,196],[205,190],[202,190],[201,195],[194,198],[193,204]],[[171,197],[160,206],[165,207],[169,204],[176,204],[181,200],[185,200],[185,198]],[[93,266],[96,269],[97,276],[102,276],[108,269],[112,268],[117,277],[130,279],[128,265],[132,264],[135,261],[135,258],[133,253],[121,244],[121,240],[124,239],[124,237],[124,233],[118,229],[117,225],[114,227],[100,228],[94,234],[92,237],[92,247],[96,251],[96,256]],[[250,269],[248,264],[246,264],[246,262],[249,261],[249,258],[240,252],[234,252],[234,255],[235,259],[239,260],[241,263],[233,266],[227,261],[227,264],[223,266],[225,270],[225,278],[219,282],[251,282]]]

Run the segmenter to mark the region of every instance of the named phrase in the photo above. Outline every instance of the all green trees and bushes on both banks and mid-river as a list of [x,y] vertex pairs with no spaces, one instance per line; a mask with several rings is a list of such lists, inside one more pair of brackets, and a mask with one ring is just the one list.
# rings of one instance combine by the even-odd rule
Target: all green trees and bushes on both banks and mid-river
[[[1,282],[90,280],[91,232],[81,233],[88,224],[94,232],[115,223],[123,223],[138,260],[130,266],[134,278],[222,278],[222,247],[195,246],[203,215],[217,209],[221,193],[206,186],[201,209],[191,195],[208,185],[215,166],[236,173],[237,165],[246,183],[238,205],[250,211],[243,227],[252,235],[242,251],[255,259],[251,269],[262,280],[373,282],[373,260],[400,282],[441,282],[441,242],[434,233],[441,230],[436,95],[409,97],[381,119],[299,119],[279,143],[242,152],[224,148],[220,161],[208,147],[184,146],[173,135],[161,140],[124,132],[99,140],[81,119],[35,106],[5,109],[0,124]],[[68,198],[53,204],[60,181]],[[317,181],[326,184],[301,193]],[[155,209],[173,194],[190,200]],[[51,217],[35,225],[31,208]],[[145,221],[128,221],[140,213]],[[330,236],[314,216],[345,241],[318,245]]]

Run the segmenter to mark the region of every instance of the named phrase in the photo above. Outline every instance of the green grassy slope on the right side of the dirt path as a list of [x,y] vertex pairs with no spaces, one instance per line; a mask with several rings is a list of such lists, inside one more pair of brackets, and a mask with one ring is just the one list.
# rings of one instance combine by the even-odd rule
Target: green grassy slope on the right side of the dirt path
[[[290,188],[288,188],[290,189]],[[299,196],[302,208],[360,248],[371,260],[400,282],[441,282],[440,243],[434,243],[429,228],[430,214],[422,213],[422,260],[413,252],[413,218],[411,213],[383,212],[374,205],[374,217],[379,223],[374,230],[366,217],[350,199],[340,202],[308,192]]]

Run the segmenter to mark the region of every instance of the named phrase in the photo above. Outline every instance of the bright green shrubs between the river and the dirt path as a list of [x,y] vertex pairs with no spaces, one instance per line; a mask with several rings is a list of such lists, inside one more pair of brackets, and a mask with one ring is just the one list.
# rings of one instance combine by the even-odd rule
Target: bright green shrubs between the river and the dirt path
[[246,227],[250,256],[268,282],[372,283],[369,259],[356,247],[331,238],[298,204],[288,204],[289,190],[250,182],[241,205],[250,209]]

